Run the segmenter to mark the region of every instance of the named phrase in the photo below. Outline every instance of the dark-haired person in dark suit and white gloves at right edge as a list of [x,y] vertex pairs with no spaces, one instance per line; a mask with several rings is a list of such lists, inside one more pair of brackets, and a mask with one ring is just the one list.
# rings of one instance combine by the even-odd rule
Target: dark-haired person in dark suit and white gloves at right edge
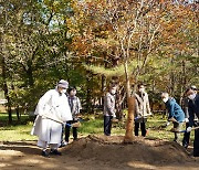
[[[195,116],[199,119],[199,95],[192,87],[187,88],[186,95],[189,98],[189,127],[187,128],[187,132],[190,132],[192,126],[199,126],[199,121],[195,121]],[[199,129],[195,129],[193,157],[199,157]]]

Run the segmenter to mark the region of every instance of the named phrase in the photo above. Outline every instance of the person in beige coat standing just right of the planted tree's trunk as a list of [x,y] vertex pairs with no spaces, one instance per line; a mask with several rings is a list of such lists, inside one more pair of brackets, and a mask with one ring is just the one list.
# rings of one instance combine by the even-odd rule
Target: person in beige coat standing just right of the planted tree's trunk
[[135,94],[135,136],[138,136],[139,126],[142,129],[142,136],[146,136],[146,121],[147,117],[151,115],[148,94],[145,92],[145,86],[143,84],[138,85],[138,92]]

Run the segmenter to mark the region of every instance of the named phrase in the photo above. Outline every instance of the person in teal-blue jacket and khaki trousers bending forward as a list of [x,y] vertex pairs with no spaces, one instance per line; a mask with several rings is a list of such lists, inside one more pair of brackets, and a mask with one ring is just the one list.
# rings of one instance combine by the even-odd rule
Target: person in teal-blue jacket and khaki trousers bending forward
[[[181,130],[181,126],[185,121],[185,113],[181,107],[177,104],[175,98],[169,97],[168,93],[163,93],[161,98],[168,110],[168,120],[172,120],[174,129],[176,131]],[[175,132],[174,141],[179,142],[179,132]]]

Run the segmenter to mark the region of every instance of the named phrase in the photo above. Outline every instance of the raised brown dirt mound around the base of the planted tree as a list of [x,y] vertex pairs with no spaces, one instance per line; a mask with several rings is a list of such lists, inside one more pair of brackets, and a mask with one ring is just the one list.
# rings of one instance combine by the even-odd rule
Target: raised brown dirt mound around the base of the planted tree
[[[81,138],[63,151],[72,157],[93,159],[124,168],[124,164],[142,162],[153,166],[185,164],[196,162],[178,144],[149,140],[136,137],[133,144],[123,144],[123,136],[87,136]],[[150,168],[149,168],[150,169]]]

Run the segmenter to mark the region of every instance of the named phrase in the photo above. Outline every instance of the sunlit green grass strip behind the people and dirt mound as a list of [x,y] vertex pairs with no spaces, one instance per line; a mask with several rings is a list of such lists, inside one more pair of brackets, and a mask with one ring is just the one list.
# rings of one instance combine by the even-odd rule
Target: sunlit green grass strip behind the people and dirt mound
[[[166,118],[160,115],[148,118],[147,121],[147,138],[149,139],[167,139],[172,140],[174,134],[169,131],[172,125],[169,125],[166,129],[158,129],[158,127],[166,123]],[[21,125],[22,124],[22,125]],[[33,123],[29,119],[28,115],[22,115],[21,121],[17,120],[17,116],[13,115],[13,125],[8,125],[8,115],[0,114],[0,141],[23,141],[23,140],[36,140],[35,136],[31,136]],[[185,127],[184,127],[185,129]],[[82,126],[78,128],[80,136],[87,136],[91,134],[103,135],[103,117],[97,118],[93,116],[84,116]],[[125,124],[113,124],[113,135],[125,135]],[[182,135],[181,135],[182,138]],[[191,132],[191,140],[193,139],[193,132]]]

